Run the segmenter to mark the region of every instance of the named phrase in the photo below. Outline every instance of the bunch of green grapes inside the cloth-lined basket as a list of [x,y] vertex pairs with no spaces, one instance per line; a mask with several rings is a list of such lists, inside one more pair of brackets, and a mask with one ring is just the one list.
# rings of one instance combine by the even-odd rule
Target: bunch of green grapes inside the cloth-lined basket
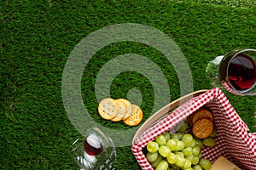
[[[184,122],[177,133],[163,133],[147,144],[148,162],[155,170],[210,170],[212,162],[201,157],[201,148],[213,146],[215,140],[195,139],[190,133],[184,133],[188,124]],[[215,132],[214,132],[215,133]],[[214,135],[214,134],[212,134]]]

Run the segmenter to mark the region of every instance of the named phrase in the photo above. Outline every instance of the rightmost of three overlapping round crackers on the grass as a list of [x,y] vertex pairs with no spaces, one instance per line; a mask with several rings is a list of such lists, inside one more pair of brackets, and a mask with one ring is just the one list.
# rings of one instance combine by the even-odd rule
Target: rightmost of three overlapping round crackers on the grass
[[131,105],[131,106],[132,106],[131,116],[123,120],[123,122],[125,122],[125,124],[128,126],[137,126],[140,122],[143,121],[143,111],[137,105]]

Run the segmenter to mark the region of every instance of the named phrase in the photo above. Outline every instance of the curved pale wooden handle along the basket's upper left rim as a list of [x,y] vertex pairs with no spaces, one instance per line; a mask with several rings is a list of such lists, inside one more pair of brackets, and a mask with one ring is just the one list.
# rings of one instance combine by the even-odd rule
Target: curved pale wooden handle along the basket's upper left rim
[[162,107],[159,111],[156,111],[152,116],[150,116],[147,121],[143,122],[143,125],[138,128],[137,133],[135,133],[133,139],[132,139],[132,144],[135,144],[135,140],[137,137],[139,137],[145,130],[147,130],[149,127],[152,127],[155,122],[160,121],[160,119],[164,116],[169,111],[172,111],[173,109],[177,108],[177,106],[182,105],[183,103],[189,101],[189,99],[192,99],[200,94],[206,93],[207,90],[199,90],[195,91],[191,94],[187,94],[179,99],[176,99],[172,101],[172,103]]

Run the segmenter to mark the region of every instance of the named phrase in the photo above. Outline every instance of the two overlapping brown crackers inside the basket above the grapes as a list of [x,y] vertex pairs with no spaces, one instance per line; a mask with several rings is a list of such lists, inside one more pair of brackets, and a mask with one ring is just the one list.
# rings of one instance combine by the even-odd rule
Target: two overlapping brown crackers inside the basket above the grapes
[[212,112],[206,108],[195,111],[188,119],[189,125],[192,126],[192,132],[195,137],[205,139],[211,135],[214,124]]

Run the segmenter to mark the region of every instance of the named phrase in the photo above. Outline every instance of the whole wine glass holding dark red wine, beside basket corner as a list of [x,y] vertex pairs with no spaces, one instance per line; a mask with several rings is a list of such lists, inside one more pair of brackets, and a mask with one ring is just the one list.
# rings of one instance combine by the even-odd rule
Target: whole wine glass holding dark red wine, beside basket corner
[[207,77],[213,86],[236,95],[256,94],[256,49],[242,48],[212,59]]

